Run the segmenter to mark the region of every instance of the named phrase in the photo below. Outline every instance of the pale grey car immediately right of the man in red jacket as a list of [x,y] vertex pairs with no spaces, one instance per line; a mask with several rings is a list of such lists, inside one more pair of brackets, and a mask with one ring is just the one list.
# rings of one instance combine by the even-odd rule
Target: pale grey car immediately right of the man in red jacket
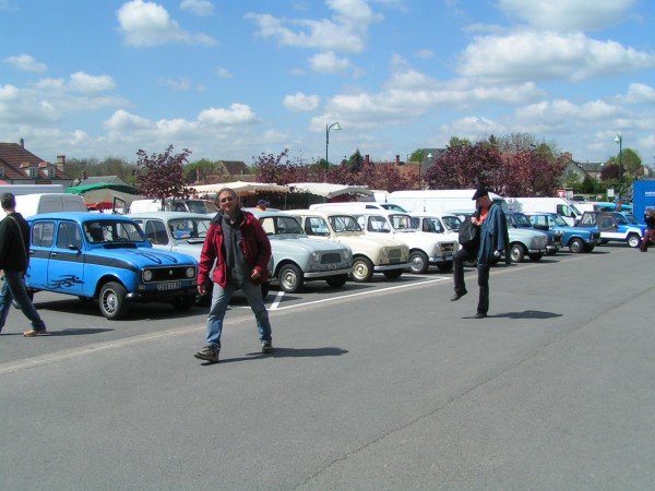
[[273,280],[287,292],[298,291],[305,282],[324,279],[338,288],[353,273],[350,248],[332,240],[312,239],[300,223],[283,212],[248,208],[259,218],[271,240]]

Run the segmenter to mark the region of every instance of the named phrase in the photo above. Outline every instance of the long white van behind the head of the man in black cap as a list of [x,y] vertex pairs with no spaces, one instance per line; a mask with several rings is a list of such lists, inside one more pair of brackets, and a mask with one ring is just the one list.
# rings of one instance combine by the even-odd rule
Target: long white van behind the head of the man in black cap
[[[388,204],[396,204],[410,213],[443,213],[452,209],[475,211],[472,200],[475,189],[429,189],[414,191],[394,191],[389,195]],[[504,199],[489,192],[489,197],[507,207]]]

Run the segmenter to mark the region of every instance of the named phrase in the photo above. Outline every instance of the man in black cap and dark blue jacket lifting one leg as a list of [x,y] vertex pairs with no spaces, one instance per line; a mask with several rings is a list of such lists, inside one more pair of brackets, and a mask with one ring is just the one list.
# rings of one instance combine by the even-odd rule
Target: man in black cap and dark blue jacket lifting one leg
[[491,201],[487,189],[476,190],[473,200],[477,202],[477,206],[471,220],[479,227],[479,243],[477,248],[462,248],[453,256],[455,295],[451,301],[457,301],[467,294],[464,282],[464,261],[477,258],[479,298],[475,319],[484,319],[489,311],[489,270],[492,264],[498,262],[503,252],[505,264],[511,263],[510,238],[502,206]]

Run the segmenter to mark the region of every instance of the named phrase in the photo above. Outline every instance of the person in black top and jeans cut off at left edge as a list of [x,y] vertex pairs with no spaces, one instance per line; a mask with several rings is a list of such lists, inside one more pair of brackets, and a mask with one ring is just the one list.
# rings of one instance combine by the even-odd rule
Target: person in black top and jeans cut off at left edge
[[25,288],[25,273],[29,266],[29,225],[23,215],[16,213],[16,199],[12,193],[3,193],[0,205],[7,213],[0,221],[0,274],[3,279],[0,290],[0,331],[4,327],[13,300],[32,321],[32,330],[24,332],[23,336],[43,336],[48,330]]

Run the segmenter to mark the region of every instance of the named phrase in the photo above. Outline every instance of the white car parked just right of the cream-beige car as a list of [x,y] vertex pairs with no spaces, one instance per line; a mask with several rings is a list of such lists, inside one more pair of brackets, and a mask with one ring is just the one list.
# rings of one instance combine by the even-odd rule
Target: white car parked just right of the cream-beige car
[[430,233],[419,233],[410,215],[382,209],[353,214],[367,235],[393,237],[409,248],[409,271],[425,273],[430,265],[445,272],[453,267],[457,242]]

